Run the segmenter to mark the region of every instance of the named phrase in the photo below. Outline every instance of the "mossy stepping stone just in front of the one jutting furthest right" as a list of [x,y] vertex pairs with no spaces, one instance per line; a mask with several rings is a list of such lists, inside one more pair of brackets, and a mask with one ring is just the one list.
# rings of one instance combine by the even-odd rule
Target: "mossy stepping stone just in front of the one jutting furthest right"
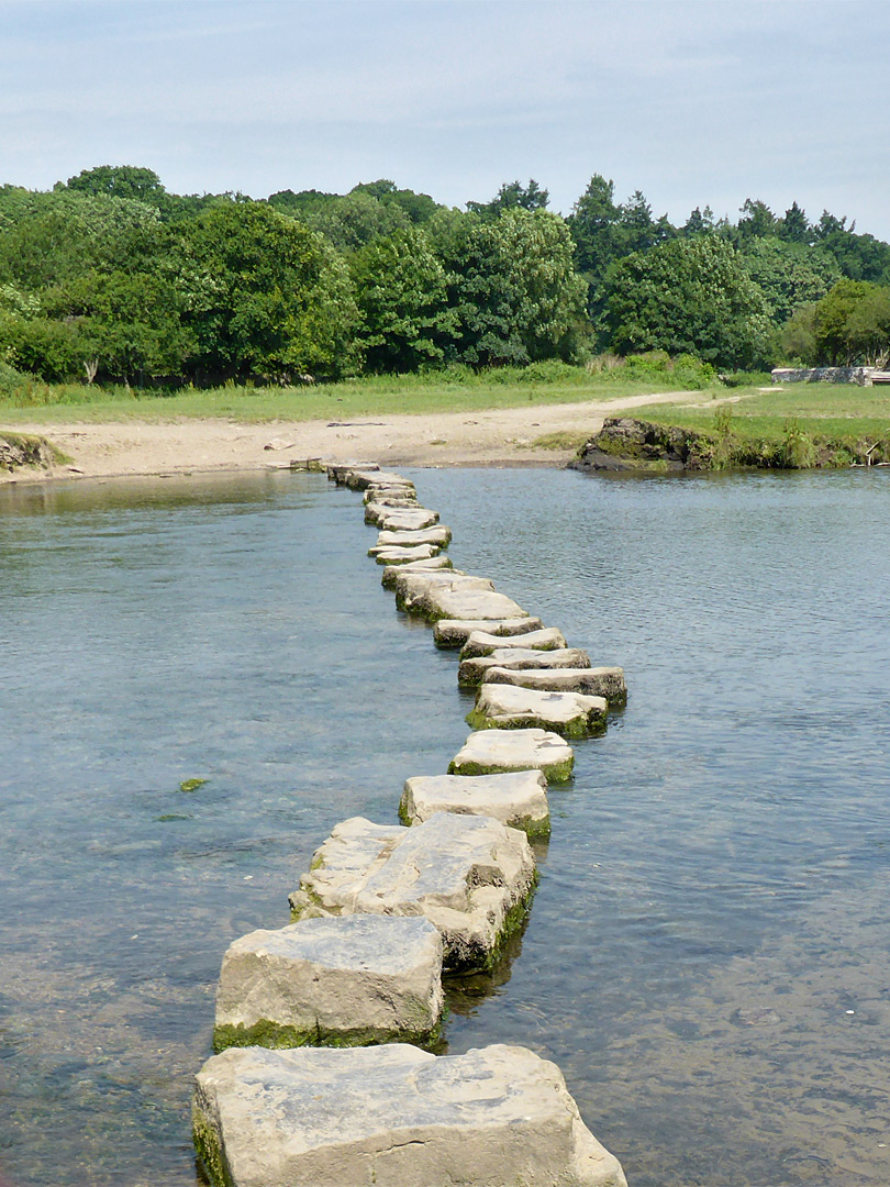
[[466,715],[475,730],[516,730],[538,726],[567,738],[602,734],[605,729],[604,697],[580,692],[538,692],[511,684],[483,684],[476,707]]

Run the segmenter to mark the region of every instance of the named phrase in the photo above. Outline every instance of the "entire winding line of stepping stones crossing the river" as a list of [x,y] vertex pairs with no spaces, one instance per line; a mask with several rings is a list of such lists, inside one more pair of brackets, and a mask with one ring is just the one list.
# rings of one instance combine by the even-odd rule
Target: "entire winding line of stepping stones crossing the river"
[[401,825],[355,817],[316,851],[293,922],[227,951],[214,1048],[196,1078],[198,1156],[215,1187],[627,1187],[559,1068],[523,1047],[436,1055],[443,975],[490,969],[536,884],[529,838],[566,738],[627,697],[487,578],[453,569],[449,528],[414,484],[329,466],[364,491],[369,550],[396,605],[460,648],[473,732],[449,774],[405,783]]

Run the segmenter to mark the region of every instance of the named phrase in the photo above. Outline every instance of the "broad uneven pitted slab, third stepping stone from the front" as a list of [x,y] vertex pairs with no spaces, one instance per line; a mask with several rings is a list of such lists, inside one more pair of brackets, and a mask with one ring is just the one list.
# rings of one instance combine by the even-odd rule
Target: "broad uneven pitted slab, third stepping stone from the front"
[[445,969],[490,967],[535,883],[525,833],[489,817],[437,812],[413,829],[338,824],[291,895],[304,915],[426,915]]

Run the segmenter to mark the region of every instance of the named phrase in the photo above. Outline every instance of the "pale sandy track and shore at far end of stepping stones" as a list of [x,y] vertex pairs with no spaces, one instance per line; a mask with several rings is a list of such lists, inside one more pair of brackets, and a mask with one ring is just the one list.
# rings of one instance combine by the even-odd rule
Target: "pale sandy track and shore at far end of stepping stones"
[[[374,461],[387,465],[565,465],[574,450],[532,443],[552,433],[592,434],[603,419],[649,404],[701,404],[698,392],[660,392],[617,400],[538,405],[483,412],[381,415],[355,421],[267,421],[235,419],[15,425],[11,432],[39,433],[70,458],[52,471],[0,472],[0,482],[47,477],[116,477],[288,469],[306,458]],[[2,432],[2,426],[0,426]]]

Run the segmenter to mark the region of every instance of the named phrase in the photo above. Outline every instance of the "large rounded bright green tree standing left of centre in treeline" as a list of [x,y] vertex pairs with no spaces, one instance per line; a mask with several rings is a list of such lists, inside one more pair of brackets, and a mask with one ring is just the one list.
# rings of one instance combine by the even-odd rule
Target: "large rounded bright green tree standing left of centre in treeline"
[[259,202],[212,207],[179,235],[183,317],[202,374],[286,381],[352,364],[352,286],[320,235]]

